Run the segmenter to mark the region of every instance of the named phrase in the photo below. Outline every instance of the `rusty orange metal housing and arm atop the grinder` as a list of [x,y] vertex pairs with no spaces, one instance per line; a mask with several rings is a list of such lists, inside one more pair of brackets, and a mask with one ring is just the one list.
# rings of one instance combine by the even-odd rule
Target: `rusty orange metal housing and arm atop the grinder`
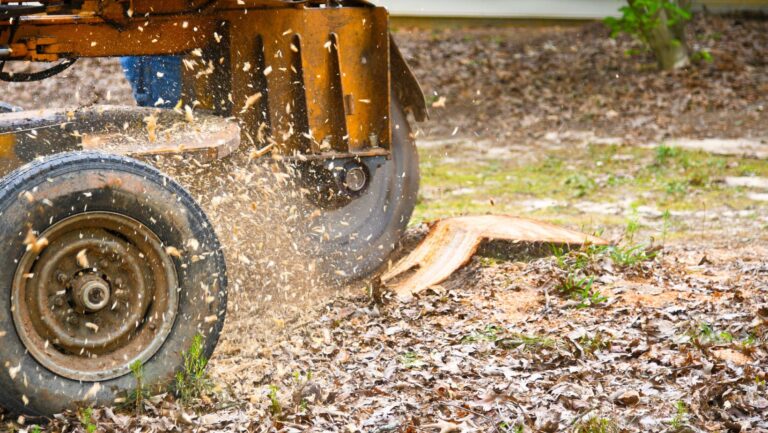
[[[186,54],[185,98],[236,117],[249,143],[274,144],[288,156],[388,153],[392,48],[384,8],[360,1],[42,3],[50,5],[44,14],[0,21],[0,48],[10,52],[2,60]],[[412,78],[395,56],[397,76]],[[401,100],[423,105],[415,80],[397,89]]]

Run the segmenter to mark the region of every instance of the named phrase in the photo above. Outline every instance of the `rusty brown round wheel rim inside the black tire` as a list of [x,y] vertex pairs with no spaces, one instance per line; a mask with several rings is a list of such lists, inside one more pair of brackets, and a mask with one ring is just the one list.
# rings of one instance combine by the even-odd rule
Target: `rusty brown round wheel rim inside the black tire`
[[13,319],[29,353],[73,380],[122,376],[162,346],[178,278],[160,239],[124,215],[88,212],[40,235],[13,280]]

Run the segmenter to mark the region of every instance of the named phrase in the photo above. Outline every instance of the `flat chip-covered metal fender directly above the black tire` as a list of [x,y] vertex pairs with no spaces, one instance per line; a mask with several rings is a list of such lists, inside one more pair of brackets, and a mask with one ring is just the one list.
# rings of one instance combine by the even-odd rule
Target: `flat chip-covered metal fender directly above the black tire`
[[[153,119],[151,133],[148,119]],[[210,114],[195,114],[190,122],[173,110],[109,105],[0,114],[0,173],[64,150],[181,154],[210,161],[229,155],[239,144],[237,124]]]

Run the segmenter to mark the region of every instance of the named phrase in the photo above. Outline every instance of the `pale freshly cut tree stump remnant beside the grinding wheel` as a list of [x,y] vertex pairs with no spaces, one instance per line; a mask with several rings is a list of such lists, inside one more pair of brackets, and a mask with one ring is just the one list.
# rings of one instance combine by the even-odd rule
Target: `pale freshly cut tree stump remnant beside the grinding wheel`
[[[603,239],[541,221],[506,215],[448,218],[432,224],[429,234],[381,280],[399,297],[408,298],[439,284],[464,266],[488,240],[567,245],[607,245]],[[409,277],[396,277],[415,269]]]

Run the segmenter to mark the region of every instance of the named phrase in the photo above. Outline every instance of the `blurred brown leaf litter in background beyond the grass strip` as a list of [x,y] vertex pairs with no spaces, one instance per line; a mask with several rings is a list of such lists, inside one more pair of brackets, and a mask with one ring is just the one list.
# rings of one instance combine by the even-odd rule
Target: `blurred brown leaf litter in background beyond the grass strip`
[[538,143],[554,131],[598,131],[647,142],[670,136],[766,135],[768,22],[698,15],[693,50],[712,63],[659,73],[640,46],[602,24],[581,27],[404,29],[398,45],[428,100],[428,135]]

